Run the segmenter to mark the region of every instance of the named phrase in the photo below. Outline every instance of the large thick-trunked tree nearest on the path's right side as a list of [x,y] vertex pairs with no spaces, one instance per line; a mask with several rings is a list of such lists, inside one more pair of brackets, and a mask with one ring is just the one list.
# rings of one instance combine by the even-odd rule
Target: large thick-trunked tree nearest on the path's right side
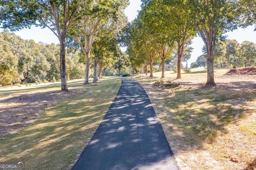
[[188,0],[196,18],[196,28],[207,49],[206,86],[215,86],[214,47],[222,34],[234,30],[240,19],[239,0]]

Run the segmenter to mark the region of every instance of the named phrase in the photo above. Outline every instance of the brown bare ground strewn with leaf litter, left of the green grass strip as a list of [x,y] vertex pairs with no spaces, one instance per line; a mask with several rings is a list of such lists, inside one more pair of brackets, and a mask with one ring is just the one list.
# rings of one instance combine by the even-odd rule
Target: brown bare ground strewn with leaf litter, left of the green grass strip
[[80,89],[72,89],[66,93],[44,89],[1,97],[0,137],[8,133],[16,134],[21,128],[34,123],[52,103],[84,93],[86,91]]

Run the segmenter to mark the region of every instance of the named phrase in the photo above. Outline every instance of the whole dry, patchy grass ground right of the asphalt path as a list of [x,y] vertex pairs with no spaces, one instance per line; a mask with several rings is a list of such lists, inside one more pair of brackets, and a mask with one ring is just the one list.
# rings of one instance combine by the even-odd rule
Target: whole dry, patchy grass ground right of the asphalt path
[[255,168],[256,76],[222,76],[226,71],[215,70],[217,86],[211,89],[203,87],[204,69],[178,80],[170,72],[166,79],[134,77],[147,91],[182,170]]

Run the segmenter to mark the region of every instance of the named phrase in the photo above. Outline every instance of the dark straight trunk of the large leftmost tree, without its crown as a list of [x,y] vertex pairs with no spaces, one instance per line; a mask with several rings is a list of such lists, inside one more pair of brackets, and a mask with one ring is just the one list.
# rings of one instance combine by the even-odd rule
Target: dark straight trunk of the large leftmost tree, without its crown
[[62,41],[60,41],[60,79],[61,79],[60,91],[68,91],[66,61],[65,61],[65,55],[66,55],[65,40],[66,38],[62,38]]

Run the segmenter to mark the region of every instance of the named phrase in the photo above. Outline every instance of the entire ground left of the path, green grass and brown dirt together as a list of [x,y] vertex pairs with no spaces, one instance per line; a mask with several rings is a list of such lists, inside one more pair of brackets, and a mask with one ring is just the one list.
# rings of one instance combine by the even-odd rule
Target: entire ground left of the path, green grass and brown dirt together
[[[27,169],[70,169],[120,84],[114,77],[86,86],[70,81],[68,93],[59,92],[59,83],[1,88],[0,161],[24,161]],[[15,115],[15,121],[7,118]]]

